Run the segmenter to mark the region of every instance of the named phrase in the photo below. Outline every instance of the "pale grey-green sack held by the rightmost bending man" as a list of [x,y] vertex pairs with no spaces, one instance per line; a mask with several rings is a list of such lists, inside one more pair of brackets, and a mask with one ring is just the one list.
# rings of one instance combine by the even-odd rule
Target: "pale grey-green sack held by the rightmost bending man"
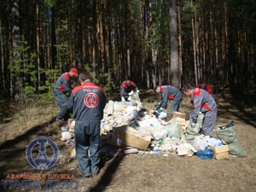
[[195,125],[192,124],[192,119],[189,119],[189,126],[186,130],[185,137],[184,137],[187,142],[192,142],[195,139],[195,137],[200,135],[199,132],[201,131],[201,124],[203,122],[203,119],[204,119],[203,113],[200,113],[198,115]]

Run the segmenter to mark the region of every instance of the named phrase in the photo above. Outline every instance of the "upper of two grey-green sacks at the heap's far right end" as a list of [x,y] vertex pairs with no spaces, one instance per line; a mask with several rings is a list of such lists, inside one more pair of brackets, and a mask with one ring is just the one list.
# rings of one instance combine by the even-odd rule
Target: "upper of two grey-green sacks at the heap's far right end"
[[234,129],[235,122],[231,121],[228,125],[218,125],[217,137],[223,140],[225,143],[236,142],[236,131]]

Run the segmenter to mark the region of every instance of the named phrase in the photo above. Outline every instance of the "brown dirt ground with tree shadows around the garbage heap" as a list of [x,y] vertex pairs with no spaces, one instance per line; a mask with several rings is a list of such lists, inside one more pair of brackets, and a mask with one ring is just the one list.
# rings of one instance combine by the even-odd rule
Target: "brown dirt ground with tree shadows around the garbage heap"
[[[117,94],[118,95],[118,94]],[[155,96],[142,91],[146,108],[156,102]],[[236,97],[235,97],[236,96]],[[9,174],[38,172],[26,160],[26,146],[38,136],[49,137],[60,149],[60,159],[45,174],[74,174],[79,181],[77,189],[55,191],[256,191],[256,101],[255,92],[231,96],[226,90],[214,97],[218,102],[216,125],[236,122],[236,135],[246,150],[247,157],[230,160],[202,160],[169,154],[109,155],[102,158],[102,169],[97,177],[82,178],[77,160],[67,163],[70,148],[61,142],[61,130],[54,124],[58,108],[55,104],[19,108],[13,101],[0,100],[0,179]],[[188,102],[183,100],[181,112],[188,112]],[[216,132],[213,132],[216,135]],[[41,184],[41,183],[40,183]],[[0,191],[19,191],[16,187]],[[42,186],[43,188],[43,186]],[[44,191],[26,190],[20,191]],[[51,191],[50,189],[45,191]]]

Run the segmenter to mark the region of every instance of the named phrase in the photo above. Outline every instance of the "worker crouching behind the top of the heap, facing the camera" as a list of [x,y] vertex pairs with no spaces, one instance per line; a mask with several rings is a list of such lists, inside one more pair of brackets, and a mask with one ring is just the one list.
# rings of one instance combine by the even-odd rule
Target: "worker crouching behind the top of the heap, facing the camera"
[[130,102],[131,101],[131,95],[134,94],[134,92],[139,92],[137,85],[133,83],[131,80],[125,80],[122,82],[120,86],[120,96],[122,102]]

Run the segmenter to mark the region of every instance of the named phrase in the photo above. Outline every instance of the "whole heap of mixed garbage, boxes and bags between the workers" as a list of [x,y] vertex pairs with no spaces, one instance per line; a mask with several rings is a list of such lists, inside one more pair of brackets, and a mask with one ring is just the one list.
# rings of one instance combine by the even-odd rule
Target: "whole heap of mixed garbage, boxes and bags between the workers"
[[[218,126],[218,138],[210,138],[199,133],[202,120],[201,113],[196,123],[192,124],[186,113],[176,112],[171,120],[166,121],[148,112],[143,108],[142,102],[109,101],[101,124],[101,151],[108,153],[113,146],[124,154],[195,154],[201,159],[217,160],[228,160],[230,154],[242,157],[247,155],[237,141],[233,124]],[[62,132],[61,139],[66,143],[74,143],[74,123],[70,119],[69,130]]]

